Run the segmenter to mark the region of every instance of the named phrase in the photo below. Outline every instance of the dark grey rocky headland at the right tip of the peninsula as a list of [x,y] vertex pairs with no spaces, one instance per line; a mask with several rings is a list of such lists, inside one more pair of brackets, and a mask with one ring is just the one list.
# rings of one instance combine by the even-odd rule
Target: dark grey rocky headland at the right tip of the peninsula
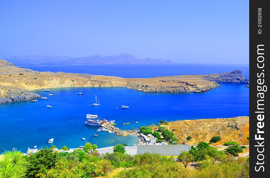
[[249,79],[246,79],[240,70],[221,74],[202,75],[202,79],[219,83],[249,83]]

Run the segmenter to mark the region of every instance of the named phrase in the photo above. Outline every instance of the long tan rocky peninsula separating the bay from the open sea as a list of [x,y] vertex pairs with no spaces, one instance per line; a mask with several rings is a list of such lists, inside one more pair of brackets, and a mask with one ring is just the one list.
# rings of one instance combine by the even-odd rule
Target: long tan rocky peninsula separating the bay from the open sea
[[31,90],[58,87],[127,87],[143,92],[201,93],[220,85],[217,82],[249,83],[239,70],[208,75],[179,75],[153,78],[39,72],[23,69],[0,59],[0,104],[29,100],[39,95]]

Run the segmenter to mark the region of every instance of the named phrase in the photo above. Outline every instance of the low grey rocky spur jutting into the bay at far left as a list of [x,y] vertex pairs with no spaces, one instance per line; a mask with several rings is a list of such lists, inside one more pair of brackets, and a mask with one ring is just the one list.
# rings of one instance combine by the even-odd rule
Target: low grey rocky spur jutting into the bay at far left
[[31,100],[40,97],[36,93],[20,88],[0,87],[0,104],[14,101]]

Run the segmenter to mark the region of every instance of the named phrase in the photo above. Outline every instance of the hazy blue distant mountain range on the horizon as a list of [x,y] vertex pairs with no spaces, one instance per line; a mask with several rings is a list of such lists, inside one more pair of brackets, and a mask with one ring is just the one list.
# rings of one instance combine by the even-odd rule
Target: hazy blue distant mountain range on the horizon
[[93,55],[83,58],[32,55],[32,56],[14,56],[4,59],[10,63],[13,63],[15,66],[65,65],[65,64],[172,63],[172,61],[164,59],[151,59],[151,58],[138,59],[133,55],[127,53],[110,56]]

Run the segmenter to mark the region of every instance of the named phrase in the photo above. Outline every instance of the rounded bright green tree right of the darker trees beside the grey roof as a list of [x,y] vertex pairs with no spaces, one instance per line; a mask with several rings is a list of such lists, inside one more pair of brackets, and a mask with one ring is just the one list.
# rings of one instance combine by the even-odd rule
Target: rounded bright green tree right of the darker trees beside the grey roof
[[207,147],[203,150],[203,155],[205,159],[209,159],[212,164],[216,163],[217,160],[222,160],[224,158],[224,152],[218,151],[215,147]]

